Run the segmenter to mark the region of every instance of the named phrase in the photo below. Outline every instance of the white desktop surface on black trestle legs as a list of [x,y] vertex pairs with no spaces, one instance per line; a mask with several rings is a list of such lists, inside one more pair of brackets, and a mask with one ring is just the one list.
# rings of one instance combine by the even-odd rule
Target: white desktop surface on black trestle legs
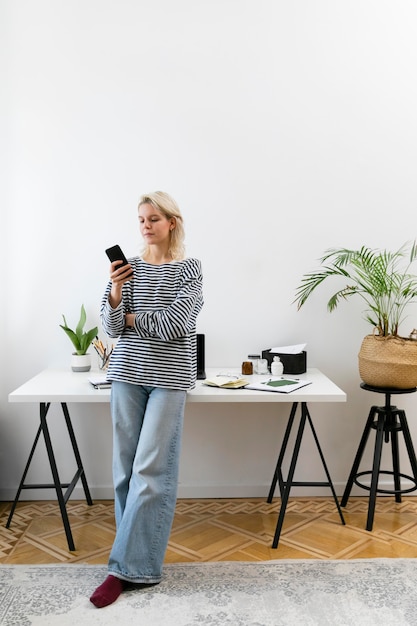
[[[9,402],[96,402],[110,401],[110,389],[95,389],[89,378],[97,371],[72,372],[69,368],[46,369],[9,394]],[[220,373],[239,374],[230,368],[208,368],[207,378]],[[267,375],[246,376],[247,380],[265,380]],[[318,369],[294,376],[311,381],[310,385],[291,393],[255,391],[252,389],[220,389],[198,380],[196,388],[187,393],[193,402],[346,402],[346,394]]]

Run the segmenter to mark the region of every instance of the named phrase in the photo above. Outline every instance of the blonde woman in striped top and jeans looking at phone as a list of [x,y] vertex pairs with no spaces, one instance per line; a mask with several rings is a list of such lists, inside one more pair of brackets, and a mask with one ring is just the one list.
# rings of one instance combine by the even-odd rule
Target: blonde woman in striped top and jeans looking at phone
[[182,216],[168,194],[142,196],[138,214],[143,254],[111,264],[101,306],[104,331],[119,341],[108,370],[116,537],[109,575],[90,598],[99,608],[128,583],[161,580],[186,392],[196,380],[200,261],[184,256]]

